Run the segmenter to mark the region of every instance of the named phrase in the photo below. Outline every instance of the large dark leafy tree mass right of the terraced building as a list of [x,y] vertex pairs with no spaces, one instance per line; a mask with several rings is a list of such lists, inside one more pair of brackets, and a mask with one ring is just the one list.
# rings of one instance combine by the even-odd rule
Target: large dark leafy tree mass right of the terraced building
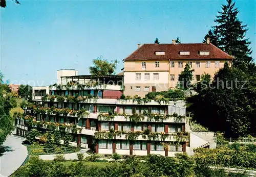
[[255,134],[256,75],[225,63],[212,82],[198,95],[188,99],[194,103],[188,111],[194,119],[211,131],[224,132],[227,137]]

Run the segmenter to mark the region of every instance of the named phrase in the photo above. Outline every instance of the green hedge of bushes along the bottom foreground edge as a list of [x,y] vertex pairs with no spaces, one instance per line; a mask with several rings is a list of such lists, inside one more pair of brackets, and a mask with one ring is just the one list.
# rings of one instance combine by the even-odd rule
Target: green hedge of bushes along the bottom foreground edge
[[[12,176],[242,176],[242,174],[226,174],[222,169],[211,170],[198,166],[187,155],[176,158],[150,155],[147,157],[127,157],[121,162],[105,162],[106,166],[89,166],[82,161],[77,162],[43,161],[32,157],[25,166],[20,167]],[[102,164],[102,162],[101,162]]]

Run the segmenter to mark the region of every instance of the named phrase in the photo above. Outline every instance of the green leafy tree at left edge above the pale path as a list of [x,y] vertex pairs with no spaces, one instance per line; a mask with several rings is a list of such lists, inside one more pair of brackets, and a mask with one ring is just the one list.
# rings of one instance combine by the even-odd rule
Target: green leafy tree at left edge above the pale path
[[3,83],[3,74],[0,72],[0,145],[12,133],[14,123],[10,116],[10,109],[15,105],[10,95],[4,96],[3,92],[6,92],[6,88],[6,84]]

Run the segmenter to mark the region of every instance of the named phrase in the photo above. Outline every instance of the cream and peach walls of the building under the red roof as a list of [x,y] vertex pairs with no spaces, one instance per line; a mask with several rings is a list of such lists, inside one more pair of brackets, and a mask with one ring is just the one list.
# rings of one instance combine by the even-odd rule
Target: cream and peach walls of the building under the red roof
[[[206,62],[210,62],[210,67],[206,67]],[[219,67],[215,66],[215,62],[220,62]],[[142,62],[146,62],[146,68],[142,68]],[[136,86],[155,86],[156,91],[167,91],[169,88],[175,88],[178,85],[179,74],[184,70],[187,62],[192,62],[191,69],[193,72],[193,83],[197,82],[196,75],[200,78],[202,74],[208,73],[211,77],[224,66],[223,60],[174,60],[174,67],[170,67],[171,64],[168,60],[159,61],[159,67],[155,67],[156,61],[126,61],[124,63],[124,85],[125,94],[144,96],[147,92],[141,90],[135,92]],[[172,62],[172,61],[170,61]],[[179,62],[183,62],[183,67],[179,67]],[[200,67],[197,67],[196,62],[200,62]],[[141,80],[136,80],[136,73],[141,73]],[[150,73],[150,80],[144,80],[144,73]],[[153,73],[159,73],[159,80],[153,80]],[[171,80],[170,74],[174,75],[174,80]],[[140,85],[139,85],[140,84]],[[155,85],[154,85],[155,84]],[[131,89],[131,87],[133,87]],[[151,92],[152,90],[150,90]]]

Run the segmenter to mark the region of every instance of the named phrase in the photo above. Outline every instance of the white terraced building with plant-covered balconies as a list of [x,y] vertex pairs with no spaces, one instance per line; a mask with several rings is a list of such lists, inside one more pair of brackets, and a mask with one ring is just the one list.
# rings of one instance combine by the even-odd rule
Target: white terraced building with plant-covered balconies
[[25,136],[33,127],[44,133],[54,125],[72,135],[72,145],[105,155],[174,156],[216,146],[213,134],[205,140],[205,135],[190,131],[184,101],[121,99],[120,75],[60,79],[67,82],[33,87],[34,105],[27,107],[26,116],[16,118],[17,135]]

